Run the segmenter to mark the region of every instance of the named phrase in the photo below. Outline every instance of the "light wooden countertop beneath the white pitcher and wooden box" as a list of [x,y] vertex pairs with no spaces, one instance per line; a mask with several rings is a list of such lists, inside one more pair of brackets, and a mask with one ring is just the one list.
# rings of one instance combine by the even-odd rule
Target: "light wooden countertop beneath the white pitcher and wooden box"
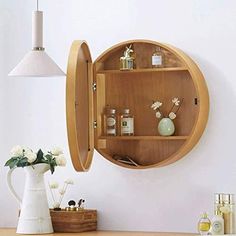
[[[0,229],[0,236],[19,236],[20,234],[16,234],[16,229]],[[21,234],[22,235],[22,234]],[[36,235],[36,234],[34,234]],[[37,234],[40,235],[40,234]],[[53,235],[53,236],[193,236],[196,234],[190,233],[149,233],[149,232],[123,232],[123,231],[91,231],[91,232],[83,232],[83,233],[55,233],[55,234],[43,234],[43,235]],[[42,234],[40,235],[42,236]]]

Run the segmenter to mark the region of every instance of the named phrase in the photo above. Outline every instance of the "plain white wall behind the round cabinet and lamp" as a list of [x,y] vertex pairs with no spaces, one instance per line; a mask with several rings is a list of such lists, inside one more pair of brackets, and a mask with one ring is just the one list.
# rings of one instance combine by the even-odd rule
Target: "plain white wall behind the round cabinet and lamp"
[[[9,150],[59,145],[69,159],[64,78],[8,78],[31,48],[32,0],[0,0],[0,226],[17,224],[18,204],[6,186]],[[236,1],[41,0],[45,47],[66,70],[74,39],[86,39],[93,59],[128,39],[181,48],[205,75],[211,99],[207,129],[184,159],[163,168],[123,169],[99,154],[88,173],[70,161],[47,179],[75,180],[67,199],[84,197],[99,211],[99,229],[195,232],[199,214],[212,213],[213,193],[236,193]],[[22,193],[23,170],[15,175]],[[66,201],[64,202],[66,203]]]

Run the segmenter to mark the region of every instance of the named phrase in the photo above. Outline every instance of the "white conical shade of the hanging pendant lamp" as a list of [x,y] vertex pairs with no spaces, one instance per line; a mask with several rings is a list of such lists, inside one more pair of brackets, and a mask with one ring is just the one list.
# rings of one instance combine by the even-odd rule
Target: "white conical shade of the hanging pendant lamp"
[[8,74],[9,76],[64,76],[65,73],[47,55],[45,51],[30,51]]

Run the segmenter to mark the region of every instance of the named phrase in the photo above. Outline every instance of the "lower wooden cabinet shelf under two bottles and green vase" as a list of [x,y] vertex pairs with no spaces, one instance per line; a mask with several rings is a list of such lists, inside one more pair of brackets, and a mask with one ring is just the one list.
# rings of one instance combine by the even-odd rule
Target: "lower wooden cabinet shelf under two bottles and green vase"
[[188,136],[100,136],[106,140],[186,140]]

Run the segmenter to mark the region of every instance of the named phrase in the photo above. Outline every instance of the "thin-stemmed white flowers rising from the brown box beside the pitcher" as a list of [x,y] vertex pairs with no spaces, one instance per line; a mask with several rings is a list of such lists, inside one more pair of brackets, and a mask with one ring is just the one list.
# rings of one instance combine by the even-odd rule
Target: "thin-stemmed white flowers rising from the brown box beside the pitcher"
[[74,184],[73,180],[71,180],[71,179],[65,180],[63,187],[58,190],[59,196],[57,197],[55,190],[59,188],[59,184],[57,182],[48,183],[50,193],[52,196],[52,200],[53,200],[53,209],[55,211],[61,210],[61,203],[62,203],[63,197],[66,193],[66,190],[68,188],[68,185],[72,185],[72,184]]

